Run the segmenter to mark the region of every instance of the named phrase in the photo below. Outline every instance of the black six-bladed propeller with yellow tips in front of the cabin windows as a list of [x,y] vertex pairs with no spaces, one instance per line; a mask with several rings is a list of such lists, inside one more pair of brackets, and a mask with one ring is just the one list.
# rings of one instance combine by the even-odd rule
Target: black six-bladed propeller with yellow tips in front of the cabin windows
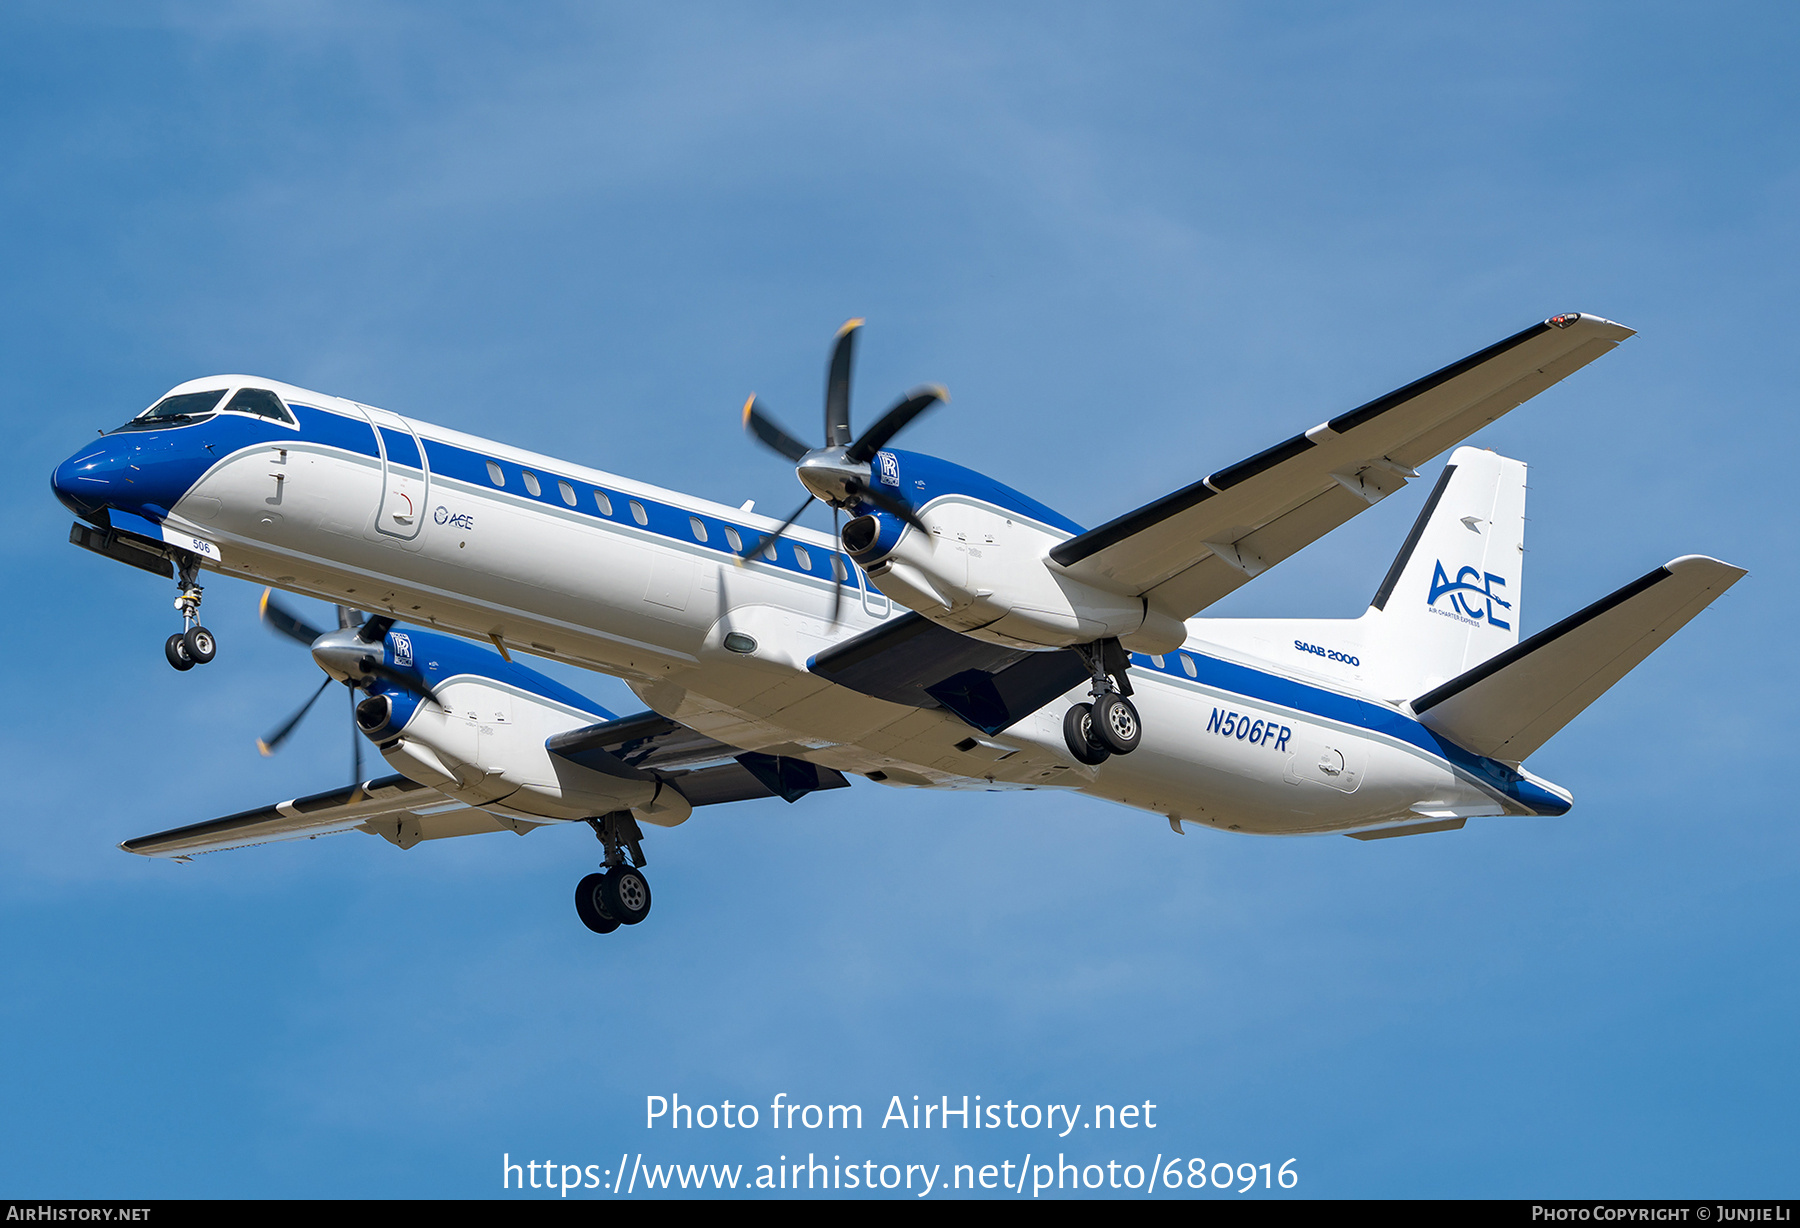
[[[805,443],[788,434],[788,430],[769,414],[754,393],[751,393],[749,400],[743,402],[743,429],[756,436],[770,452],[776,452],[790,461],[796,468],[796,475],[806,488],[805,502],[794,508],[794,513],[781,522],[781,528],[751,546],[751,549],[743,553],[743,558],[751,558],[781,538],[794,526],[794,522],[799,520],[801,513],[812,506],[814,499],[832,506],[833,537],[837,535],[839,513],[846,508],[859,508],[862,504],[878,508],[880,511],[886,511],[916,529],[925,528],[923,520],[918,519],[918,513],[914,513],[904,499],[873,484],[869,461],[873,461],[875,454],[887,447],[896,434],[909,427],[914,418],[938,402],[950,400],[950,394],[938,385],[916,387],[889,405],[887,412],[875,420],[875,425],[860,436],[851,436],[850,369],[855,362],[857,331],[860,328],[862,321],[846,321],[844,326],[837,330],[837,339],[832,344],[832,362],[826,367],[824,376],[824,447],[808,448]],[[833,560],[837,556],[833,553]],[[832,623],[837,625],[842,587],[850,576],[837,562],[833,562],[832,578],[835,580],[832,587]]]

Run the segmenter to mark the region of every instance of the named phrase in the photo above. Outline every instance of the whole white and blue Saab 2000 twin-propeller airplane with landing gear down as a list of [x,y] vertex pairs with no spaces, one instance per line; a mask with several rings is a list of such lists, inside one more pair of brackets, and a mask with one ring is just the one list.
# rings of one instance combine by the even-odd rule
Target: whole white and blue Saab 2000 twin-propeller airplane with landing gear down
[[[650,911],[641,825],[850,776],[1073,790],[1175,834],[1561,816],[1573,794],[1525,760],[1746,574],[1685,555],[1521,639],[1526,466],[1463,441],[1633,337],[1597,315],[1532,324],[1098,528],[891,447],[940,387],[853,432],[860,326],[832,346],[823,445],[743,405],[806,490],[785,520],[257,376],[189,380],[88,441],[52,474],[70,542],[176,582],[169,663],[218,652],[202,573],[329,601],[329,630],[268,592],[263,618],[311,650],[320,693],[364,693],[356,726],[392,769],[121,848],[587,823],[603,859],[576,913],[610,933]],[[1451,448],[1359,618],[1201,618]],[[799,524],[814,501],[830,535]],[[515,652],[619,677],[646,711]]]

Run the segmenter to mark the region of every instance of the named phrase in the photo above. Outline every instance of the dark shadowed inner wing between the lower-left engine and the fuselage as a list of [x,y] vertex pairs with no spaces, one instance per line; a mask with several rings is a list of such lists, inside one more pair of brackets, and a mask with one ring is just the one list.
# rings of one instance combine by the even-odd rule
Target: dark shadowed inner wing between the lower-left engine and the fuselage
[[558,733],[544,745],[551,754],[607,776],[661,778],[695,807],[754,798],[799,801],[821,789],[850,789],[844,774],[830,767],[740,751],[653,711]]

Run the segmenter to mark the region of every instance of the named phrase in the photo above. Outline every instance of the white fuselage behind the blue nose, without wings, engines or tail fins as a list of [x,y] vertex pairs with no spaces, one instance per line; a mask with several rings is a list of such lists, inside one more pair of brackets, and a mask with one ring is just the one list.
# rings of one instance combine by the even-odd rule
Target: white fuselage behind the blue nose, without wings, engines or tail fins
[[[945,709],[846,690],[808,673],[808,659],[904,610],[833,538],[794,528],[774,562],[738,562],[727,531],[751,544],[774,520],[281,391],[302,414],[293,438],[220,457],[171,510],[171,528],[218,546],[220,571],[617,675],[731,745],[891,785],[1076,789],[1260,834],[1525,812],[1438,753],[1404,706],[1359,695],[1348,675],[1213,643],[1206,619],[1188,621],[1181,652],[1134,657],[1143,744],[1098,767],[1062,738],[1084,690],[994,736]],[[353,432],[338,439],[369,447],[308,430],[320,412]],[[414,456],[403,436],[423,439],[428,470],[401,463]],[[833,556],[850,571],[835,627]],[[727,648],[733,632],[754,650]]]

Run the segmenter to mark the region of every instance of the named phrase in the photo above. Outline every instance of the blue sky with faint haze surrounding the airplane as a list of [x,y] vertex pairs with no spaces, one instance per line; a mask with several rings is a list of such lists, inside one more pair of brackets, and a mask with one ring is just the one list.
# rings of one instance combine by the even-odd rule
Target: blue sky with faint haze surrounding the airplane
[[[0,14],[13,576],[0,1187],[495,1196],[500,1154],[761,1163],[646,1095],[1152,1100],[1116,1142],[1316,1196],[1793,1192],[1796,196],[1786,5],[14,5]],[[1555,312],[1640,330],[1478,443],[1532,465],[1523,625],[1683,553],[1751,571],[1532,760],[1564,819],[1364,844],[868,783],[657,834],[151,864],[331,787],[342,717],[218,582],[67,546],[50,468],[250,371],[787,510],[736,425],[860,420],[1094,524]],[[1354,616],[1424,499],[1220,614]],[[607,679],[567,675],[614,706]],[[1148,1142],[1145,1142],[1148,1140]],[[992,1142],[992,1147],[990,1147]],[[1080,1143],[1076,1147],[1076,1143]]]

